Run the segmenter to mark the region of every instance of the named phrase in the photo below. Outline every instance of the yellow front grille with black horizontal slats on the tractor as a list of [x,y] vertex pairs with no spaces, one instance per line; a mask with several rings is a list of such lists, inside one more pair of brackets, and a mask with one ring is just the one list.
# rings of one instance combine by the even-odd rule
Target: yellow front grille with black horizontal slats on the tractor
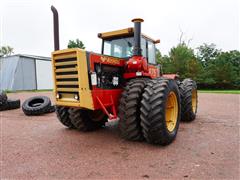
[[52,53],[56,105],[94,110],[86,51],[79,48]]

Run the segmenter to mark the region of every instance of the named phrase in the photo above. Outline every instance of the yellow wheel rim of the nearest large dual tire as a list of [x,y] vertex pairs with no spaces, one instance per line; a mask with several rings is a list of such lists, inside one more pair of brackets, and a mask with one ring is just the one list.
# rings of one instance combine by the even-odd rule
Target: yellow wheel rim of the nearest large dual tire
[[172,132],[176,127],[178,119],[178,100],[173,91],[168,94],[165,113],[167,129],[169,132]]

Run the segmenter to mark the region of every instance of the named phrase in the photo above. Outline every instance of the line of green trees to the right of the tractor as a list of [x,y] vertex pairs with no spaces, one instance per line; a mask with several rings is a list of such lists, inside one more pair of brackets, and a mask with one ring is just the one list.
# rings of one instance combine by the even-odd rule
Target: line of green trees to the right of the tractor
[[192,78],[201,89],[240,89],[240,52],[224,52],[215,44],[203,44],[195,50],[185,42],[162,56],[157,62],[163,73],[177,73],[182,79]]

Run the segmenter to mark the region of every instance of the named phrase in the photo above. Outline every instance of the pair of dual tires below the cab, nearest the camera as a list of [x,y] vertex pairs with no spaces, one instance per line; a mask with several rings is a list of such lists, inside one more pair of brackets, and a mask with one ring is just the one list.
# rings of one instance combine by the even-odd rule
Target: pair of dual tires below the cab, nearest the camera
[[132,79],[120,99],[120,135],[132,141],[170,144],[177,135],[180,113],[180,94],[174,80]]

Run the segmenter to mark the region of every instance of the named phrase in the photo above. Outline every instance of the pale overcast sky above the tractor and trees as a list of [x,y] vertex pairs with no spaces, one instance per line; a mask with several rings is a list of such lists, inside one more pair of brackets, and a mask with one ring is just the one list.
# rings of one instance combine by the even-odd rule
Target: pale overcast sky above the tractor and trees
[[167,54],[183,39],[196,48],[214,43],[224,51],[240,46],[238,0],[0,0],[0,46],[15,53],[50,56],[53,50],[52,12],[60,18],[60,47],[79,38],[87,50],[100,52],[99,32],[133,26],[144,19],[142,32],[161,39],[157,48]]

